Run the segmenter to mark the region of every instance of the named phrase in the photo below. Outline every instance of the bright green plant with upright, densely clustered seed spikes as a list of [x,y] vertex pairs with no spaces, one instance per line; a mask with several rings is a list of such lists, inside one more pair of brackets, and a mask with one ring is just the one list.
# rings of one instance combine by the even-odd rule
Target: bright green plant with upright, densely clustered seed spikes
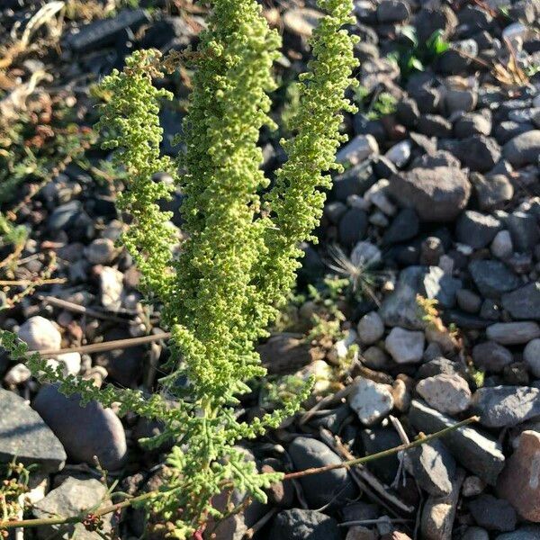
[[[208,29],[191,55],[193,93],[184,120],[185,151],[178,158],[177,182],[184,194],[186,239],[172,256],[175,235],[170,215],[158,202],[171,187],[152,180],[158,171],[174,175],[173,164],[159,155],[159,100],[170,98],[152,85],[159,75],[156,51],[138,51],[123,72],[103,80],[112,95],[99,122],[105,148],[129,181],[119,207],[131,216],[123,241],[137,261],[145,293],[162,306],[164,326],[173,335],[169,366],[161,382],[176,406],[137,392],[65,379],[64,392],[85,399],[122,402],[146,416],[161,418],[164,437],[175,439],[170,476],[152,509],[171,524],[172,535],[188,538],[208,518],[220,518],[212,497],[235,488],[265,500],[264,489],[279,474],[259,474],[235,444],[278,427],[309,393],[249,423],[238,421],[234,406],[247,383],[265,374],[255,350],[266,336],[293,287],[300,266],[299,244],[311,238],[330,185],[329,170],[345,139],[339,134],[341,111],[354,81],[353,39],[343,30],[350,22],[351,0],[319,0],[326,14],[312,38],[313,58],[302,76],[300,105],[291,120],[291,139],[283,141],[288,160],[270,186],[257,147],[260,130],[272,126],[268,93],[275,89],[272,66],[280,38],[271,30],[256,0],[213,0]],[[266,191],[266,194],[262,194]],[[32,360],[34,370],[46,370]],[[182,384],[182,375],[186,375]],[[58,374],[46,371],[48,379]],[[152,441],[150,441],[150,444]]]

